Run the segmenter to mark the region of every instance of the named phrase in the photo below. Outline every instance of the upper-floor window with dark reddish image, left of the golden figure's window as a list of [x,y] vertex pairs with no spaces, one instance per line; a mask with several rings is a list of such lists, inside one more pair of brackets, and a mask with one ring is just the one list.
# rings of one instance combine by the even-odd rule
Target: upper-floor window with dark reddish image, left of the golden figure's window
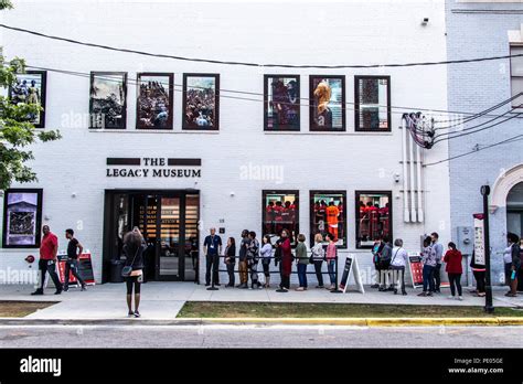
[[300,76],[264,76],[264,129],[300,130]]

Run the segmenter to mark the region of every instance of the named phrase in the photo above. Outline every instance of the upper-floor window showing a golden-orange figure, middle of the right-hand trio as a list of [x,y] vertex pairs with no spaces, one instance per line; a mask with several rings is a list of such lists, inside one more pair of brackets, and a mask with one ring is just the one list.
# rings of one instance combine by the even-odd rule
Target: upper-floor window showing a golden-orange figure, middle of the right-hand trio
[[310,76],[310,130],[345,130],[345,76]]

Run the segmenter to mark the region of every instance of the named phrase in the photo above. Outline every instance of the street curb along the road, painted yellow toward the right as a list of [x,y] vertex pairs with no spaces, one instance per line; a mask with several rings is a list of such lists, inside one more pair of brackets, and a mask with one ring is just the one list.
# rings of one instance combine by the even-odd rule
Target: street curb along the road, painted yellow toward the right
[[0,326],[352,326],[352,327],[457,327],[523,326],[523,318],[177,318],[177,319],[24,319],[0,318]]

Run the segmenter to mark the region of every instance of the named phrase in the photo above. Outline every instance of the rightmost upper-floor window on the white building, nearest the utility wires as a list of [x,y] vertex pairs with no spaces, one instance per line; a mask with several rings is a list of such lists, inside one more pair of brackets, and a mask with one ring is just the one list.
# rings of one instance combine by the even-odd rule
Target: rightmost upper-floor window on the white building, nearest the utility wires
[[354,76],[356,131],[391,131],[391,76]]

